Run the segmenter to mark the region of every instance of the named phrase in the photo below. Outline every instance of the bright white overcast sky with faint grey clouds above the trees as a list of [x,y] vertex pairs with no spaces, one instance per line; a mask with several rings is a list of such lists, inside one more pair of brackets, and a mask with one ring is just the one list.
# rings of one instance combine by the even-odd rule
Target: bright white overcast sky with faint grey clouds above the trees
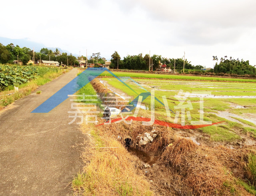
[[[26,38],[88,57],[140,53],[214,66],[212,56],[256,65],[255,0],[12,0],[0,37]],[[38,50],[35,48],[35,50]]]

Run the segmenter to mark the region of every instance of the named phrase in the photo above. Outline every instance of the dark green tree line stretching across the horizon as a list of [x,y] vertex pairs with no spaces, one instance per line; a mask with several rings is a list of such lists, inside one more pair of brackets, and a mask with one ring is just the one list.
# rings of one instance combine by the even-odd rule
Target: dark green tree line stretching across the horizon
[[[252,66],[249,64],[249,60],[244,61],[243,59],[239,60],[234,59],[230,56],[224,56],[224,58],[220,58],[220,63],[218,64],[217,56],[212,56],[213,60],[217,61],[214,65],[214,69],[209,70],[209,72],[214,73],[228,73],[228,74],[255,74],[256,68],[255,65]],[[80,56],[76,58],[71,53],[68,55],[67,53],[60,51],[56,48],[56,50],[52,51],[48,48],[42,48],[40,52],[34,52],[30,48],[20,48],[20,46],[14,44],[8,44],[4,46],[0,43],[0,63],[2,64],[12,64],[14,60],[21,60],[23,64],[27,64],[29,60],[34,58],[34,61],[37,62],[38,60],[53,60],[58,61],[60,64],[65,64],[68,66],[78,66],[78,60],[86,60],[86,57]],[[100,52],[92,54],[88,59],[88,63],[94,63],[96,67],[99,64],[105,64],[106,58],[100,56]],[[183,58],[164,58],[161,55],[154,54],[149,56],[146,54],[143,56],[141,53],[138,55],[127,55],[126,57],[121,60],[120,55],[118,52],[114,52],[111,55],[111,64],[110,68],[113,69],[126,69],[126,70],[149,70],[149,62],[150,62],[150,69],[155,71],[159,68],[160,63],[166,64],[167,69],[175,69],[176,70],[183,70],[184,60]],[[185,59],[185,69],[187,70],[201,70],[205,68],[202,65],[192,65],[187,59]]]

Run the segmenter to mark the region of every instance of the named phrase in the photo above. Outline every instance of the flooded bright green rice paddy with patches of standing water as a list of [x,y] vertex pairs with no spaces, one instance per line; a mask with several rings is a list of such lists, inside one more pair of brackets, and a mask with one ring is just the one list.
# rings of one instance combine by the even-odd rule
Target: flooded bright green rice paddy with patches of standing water
[[[215,141],[235,141],[241,138],[238,129],[243,132],[250,132],[256,136],[256,83],[247,82],[208,82],[208,81],[185,81],[185,80],[156,80],[156,79],[135,79],[126,80],[130,88],[122,84],[116,78],[100,78],[102,83],[113,92],[124,93],[130,100],[136,98],[142,92],[155,91],[155,96],[161,102],[166,97],[171,116],[167,117],[165,107],[155,102],[155,112],[160,119],[165,118],[168,122],[174,123],[175,109],[180,100],[177,96],[185,96],[183,104],[190,102],[192,107],[186,110],[190,112],[191,121],[199,120],[200,99],[203,102],[204,120],[222,122],[221,124],[201,128]],[[185,94],[186,93],[186,94]],[[149,108],[150,98],[142,104]],[[179,119],[180,120],[180,119]],[[180,121],[179,121],[180,122]],[[186,119],[186,124],[190,121]],[[252,141],[250,141],[252,142]]]

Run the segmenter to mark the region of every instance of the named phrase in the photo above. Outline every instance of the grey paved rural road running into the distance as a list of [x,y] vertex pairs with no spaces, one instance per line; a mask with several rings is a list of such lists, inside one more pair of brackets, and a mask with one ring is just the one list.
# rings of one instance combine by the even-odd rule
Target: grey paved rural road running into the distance
[[[70,98],[49,113],[30,113],[76,77],[77,69],[40,86],[0,112],[0,195],[72,195],[86,135],[68,124]],[[74,147],[75,146],[75,147]]]

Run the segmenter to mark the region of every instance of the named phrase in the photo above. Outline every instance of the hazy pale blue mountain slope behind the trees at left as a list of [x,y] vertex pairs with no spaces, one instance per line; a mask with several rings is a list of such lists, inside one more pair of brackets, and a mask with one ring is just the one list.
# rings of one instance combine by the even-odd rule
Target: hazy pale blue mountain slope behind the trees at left
[[[18,46],[20,46],[20,48],[27,47],[27,48],[30,48],[31,50],[33,50],[33,47],[34,47],[35,52],[40,52],[40,50],[42,48],[48,48],[49,50],[52,50],[52,51],[56,50],[56,48],[50,48],[50,47],[45,46],[44,44],[40,44],[40,43],[37,43],[37,42],[32,42],[32,41],[28,40],[28,38],[10,39],[10,38],[0,37],[0,43],[3,44],[4,46],[12,43],[12,44],[14,44],[14,46],[18,45]],[[61,48],[58,48],[58,50],[61,53],[66,52],[67,54],[70,54],[70,52],[68,50],[62,50]],[[76,57],[79,56],[78,54],[72,54],[72,55],[76,56]]]

